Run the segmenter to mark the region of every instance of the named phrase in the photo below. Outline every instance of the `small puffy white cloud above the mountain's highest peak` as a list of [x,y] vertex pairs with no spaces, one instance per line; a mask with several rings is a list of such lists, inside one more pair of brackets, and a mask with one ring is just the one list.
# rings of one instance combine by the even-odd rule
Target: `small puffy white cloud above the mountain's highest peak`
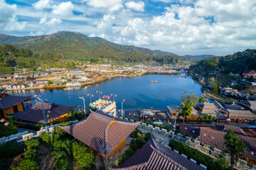
[[73,16],[74,5],[68,2],[62,2],[53,6],[52,13],[58,16],[70,17]]

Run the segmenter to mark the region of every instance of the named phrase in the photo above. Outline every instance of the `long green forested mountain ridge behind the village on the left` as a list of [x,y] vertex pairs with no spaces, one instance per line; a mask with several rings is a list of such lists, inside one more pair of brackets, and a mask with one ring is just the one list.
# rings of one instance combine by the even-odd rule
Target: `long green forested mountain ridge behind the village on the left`
[[15,37],[0,35],[0,43],[28,48],[34,53],[53,53],[59,59],[89,61],[92,58],[114,62],[164,62],[172,64],[183,61],[170,52],[149,50],[132,45],[119,45],[103,38],[89,38],[81,33],[59,32],[51,35]]

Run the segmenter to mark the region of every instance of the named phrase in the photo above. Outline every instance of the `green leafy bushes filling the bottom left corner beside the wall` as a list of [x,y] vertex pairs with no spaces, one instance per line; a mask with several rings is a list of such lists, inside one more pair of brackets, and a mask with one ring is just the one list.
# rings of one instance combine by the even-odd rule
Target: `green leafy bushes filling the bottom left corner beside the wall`
[[[39,139],[27,140],[24,145],[7,142],[0,146],[0,169],[93,169],[95,154],[80,142],[71,138],[60,128],[53,133],[42,133]],[[22,154],[23,153],[23,154]],[[6,162],[16,159],[15,163]],[[43,160],[49,160],[48,162]]]

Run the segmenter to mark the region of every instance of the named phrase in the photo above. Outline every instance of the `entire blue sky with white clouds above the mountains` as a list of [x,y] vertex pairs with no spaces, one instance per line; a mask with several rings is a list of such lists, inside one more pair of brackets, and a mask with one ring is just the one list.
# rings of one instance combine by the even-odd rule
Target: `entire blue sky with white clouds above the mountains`
[[60,30],[178,55],[255,49],[255,0],[0,0],[0,33]]

